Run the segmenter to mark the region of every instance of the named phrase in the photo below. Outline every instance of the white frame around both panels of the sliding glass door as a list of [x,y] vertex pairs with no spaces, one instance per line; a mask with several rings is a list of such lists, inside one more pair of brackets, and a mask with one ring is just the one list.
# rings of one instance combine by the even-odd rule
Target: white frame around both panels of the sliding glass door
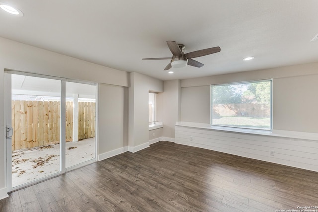
[[[91,84],[96,86],[96,93],[95,93],[95,99],[96,99],[96,111],[95,111],[95,116],[96,116],[96,129],[95,129],[95,158],[88,160],[86,162],[80,163],[76,166],[72,166],[70,168],[65,168],[65,135],[66,135],[66,122],[61,122],[60,123],[60,171],[57,173],[54,173],[52,175],[24,183],[22,185],[16,186],[12,188],[12,140],[6,138],[6,133],[4,134],[4,149],[6,151],[4,152],[4,156],[6,157],[6,174],[5,174],[5,184],[7,187],[7,192],[12,192],[16,191],[22,188],[25,188],[30,185],[37,184],[39,182],[48,180],[50,178],[54,178],[56,176],[62,175],[66,173],[67,171],[71,171],[73,169],[94,163],[98,159],[97,155],[97,149],[98,149],[98,83],[91,83],[91,82],[85,82],[85,81],[79,81],[79,80],[73,80],[73,79],[66,79],[62,77],[54,77],[54,76],[48,76],[48,75],[41,75],[41,74],[34,74],[34,73],[28,73],[28,72],[23,72],[23,71],[14,71],[14,70],[4,70],[4,123],[6,126],[12,126],[12,120],[11,120],[11,113],[12,113],[12,105],[11,105],[11,99],[12,99],[12,86],[11,86],[11,74],[18,74],[18,75],[24,75],[24,76],[32,76],[32,77],[40,77],[40,78],[47,78],[47,79],[55,79],[61,81],[61,111],[60,111],[60,117],[61,120],[63,120],[63,117],[66,117],[66,82],[77,82],[77,83],[82,83],[82,84]],[[5,126],[5,129],[6,129]]]

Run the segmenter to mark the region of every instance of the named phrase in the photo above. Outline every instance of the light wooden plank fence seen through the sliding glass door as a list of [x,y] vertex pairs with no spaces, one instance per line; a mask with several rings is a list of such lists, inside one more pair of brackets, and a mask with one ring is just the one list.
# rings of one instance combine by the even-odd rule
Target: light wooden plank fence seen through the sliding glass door
[[[95,137],[94,102],[78,103],[78,140]],[[60,102],[12,101],[12,151],[60,143]],[[66,102],[66,141],[72,141],[73,102]]]

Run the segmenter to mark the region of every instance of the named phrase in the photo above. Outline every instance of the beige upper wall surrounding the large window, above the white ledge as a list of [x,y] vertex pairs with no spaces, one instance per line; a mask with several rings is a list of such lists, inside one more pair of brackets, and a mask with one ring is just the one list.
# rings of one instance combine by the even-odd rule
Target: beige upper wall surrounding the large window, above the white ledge
[[318,133],[318,63],[182,80],[181,121],[210,123],[210,84],[271,78],[273,129]]

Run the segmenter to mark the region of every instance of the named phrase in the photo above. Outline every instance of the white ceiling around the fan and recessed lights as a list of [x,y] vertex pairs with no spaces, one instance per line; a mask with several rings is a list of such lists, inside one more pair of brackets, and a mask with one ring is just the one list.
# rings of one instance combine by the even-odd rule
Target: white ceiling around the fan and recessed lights
[[[318,62],[318,0],[0,0],[0,36],[161,80]],[[166,41],[184,52],[215,46],[201,68],[163,71]],[[252,61],[242,61],[255,56]]]

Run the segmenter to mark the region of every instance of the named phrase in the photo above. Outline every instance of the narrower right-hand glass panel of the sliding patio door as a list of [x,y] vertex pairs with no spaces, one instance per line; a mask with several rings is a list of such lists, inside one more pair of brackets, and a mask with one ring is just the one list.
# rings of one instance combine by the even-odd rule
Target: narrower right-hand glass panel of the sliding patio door
[[65,167],[96,158],[96,86],[66,82]]

